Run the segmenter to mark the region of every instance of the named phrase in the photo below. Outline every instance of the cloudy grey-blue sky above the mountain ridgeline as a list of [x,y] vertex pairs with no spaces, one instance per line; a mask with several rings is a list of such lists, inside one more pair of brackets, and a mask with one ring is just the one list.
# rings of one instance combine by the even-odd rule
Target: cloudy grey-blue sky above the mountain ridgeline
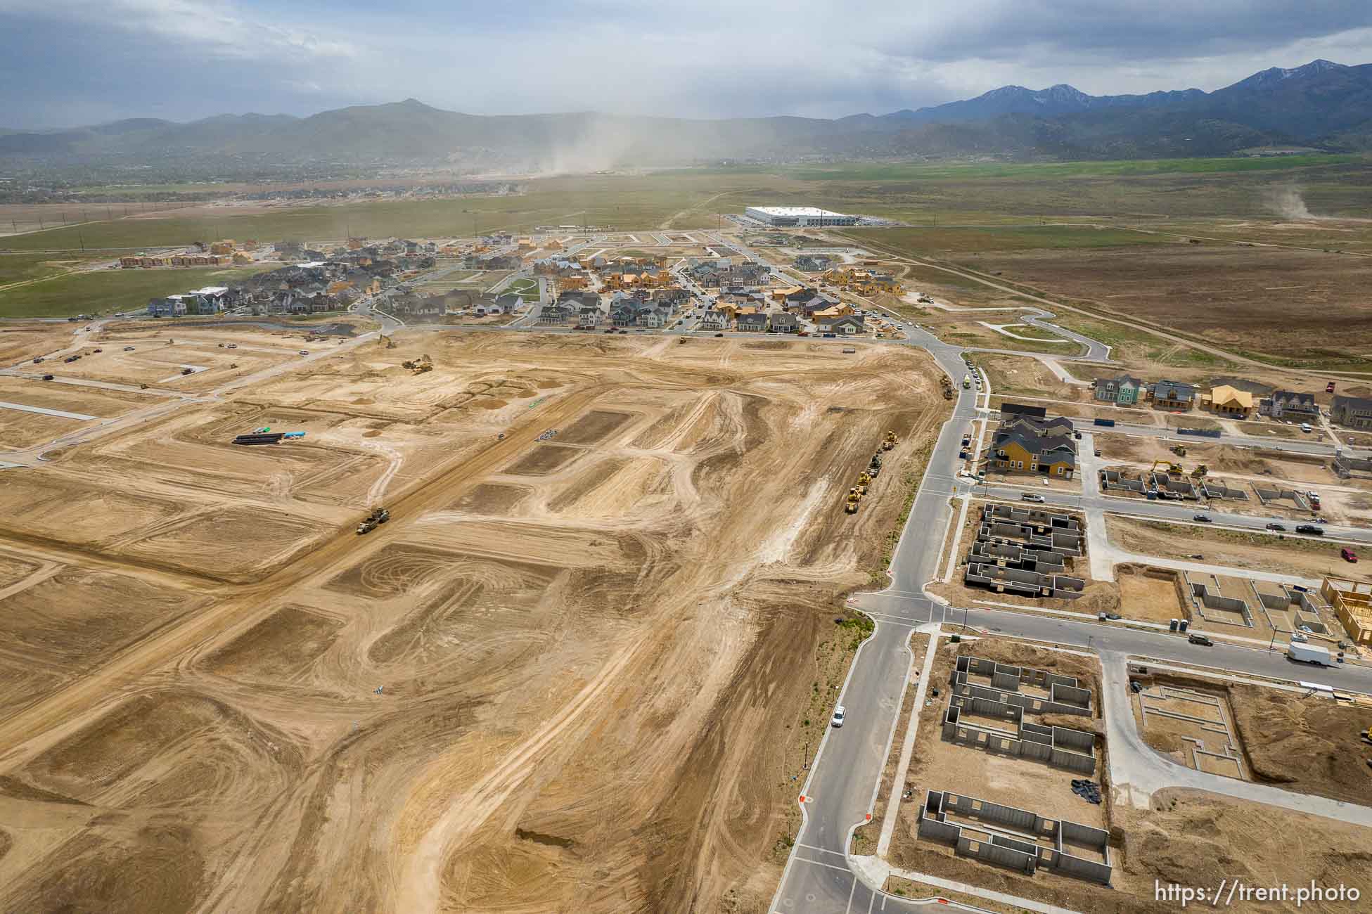
[[0,0],[0,126],[313,114],[841,117],[1006,84],[1214,89],[1372,62],[1368,0]]

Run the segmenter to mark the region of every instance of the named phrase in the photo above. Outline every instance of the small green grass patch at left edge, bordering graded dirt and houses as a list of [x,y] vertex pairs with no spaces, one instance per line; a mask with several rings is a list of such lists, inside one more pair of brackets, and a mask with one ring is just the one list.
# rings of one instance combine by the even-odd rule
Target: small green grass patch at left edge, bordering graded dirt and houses
[[0,290],[0,317],[107,314],[147,306],[150,298],[203,285],[228,285],[261,269],[100,270]]

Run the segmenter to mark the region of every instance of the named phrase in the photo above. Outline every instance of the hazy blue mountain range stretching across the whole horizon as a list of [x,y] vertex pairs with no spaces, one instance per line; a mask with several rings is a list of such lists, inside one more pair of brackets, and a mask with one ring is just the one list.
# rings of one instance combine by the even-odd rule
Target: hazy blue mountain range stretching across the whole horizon
[[1092,96],[1070,85],[1008,85],[962,102],[837,119],[472,115],[406,99],[306,118],[225,114],[189,124],[133,118],[0,129],[0,161],[11,165],[450,163],[543,172],[722,159],[1206,156],[1291,145],[1372,148],[1372,65],[1272,67],[1214,92]]

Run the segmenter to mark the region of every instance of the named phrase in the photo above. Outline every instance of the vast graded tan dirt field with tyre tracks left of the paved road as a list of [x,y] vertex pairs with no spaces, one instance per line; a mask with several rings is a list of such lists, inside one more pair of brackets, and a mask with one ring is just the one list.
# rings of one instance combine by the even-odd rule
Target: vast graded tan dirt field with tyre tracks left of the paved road
[[[397,343],[0,472],[0,909],[766,907],[927,361]],[[229,443],[261,425],[306,436]]]

